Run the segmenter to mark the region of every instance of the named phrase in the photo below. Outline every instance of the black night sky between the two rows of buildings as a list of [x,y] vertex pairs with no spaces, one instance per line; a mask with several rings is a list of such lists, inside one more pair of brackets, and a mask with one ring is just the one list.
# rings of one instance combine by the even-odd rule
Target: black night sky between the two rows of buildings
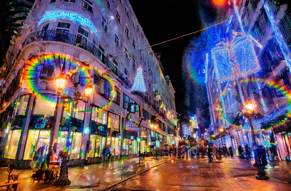
[[[130,0],[135,15],[150,45],[200,30],[198,8],[194,0]],[[184,48],[193,35],[153,46],[161,53],[161,62],[176,91],[178,113],[184,113],[184,82],[182,80],[182,56]]]

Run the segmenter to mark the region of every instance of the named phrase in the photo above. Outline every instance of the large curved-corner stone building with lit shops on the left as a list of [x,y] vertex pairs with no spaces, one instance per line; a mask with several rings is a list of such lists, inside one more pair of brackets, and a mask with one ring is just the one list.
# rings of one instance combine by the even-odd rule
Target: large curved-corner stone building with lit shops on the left
[[6,61],[2,163],[27,167],[53,147],[82,165],[175,142],[175,91],[128,0],[35,1]]

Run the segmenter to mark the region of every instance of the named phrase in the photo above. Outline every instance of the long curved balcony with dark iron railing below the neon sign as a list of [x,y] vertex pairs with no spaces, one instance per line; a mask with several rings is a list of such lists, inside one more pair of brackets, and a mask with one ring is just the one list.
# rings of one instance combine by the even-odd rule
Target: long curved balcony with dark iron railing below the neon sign
[[117,75],[125,84],[131,86],[129,80],[123,77],[123,73],[114,65],[114,63],[112,63],[99,48],[97,48],[94,44],[88,42],[81,36],[57,30],[41,30],[31,33],[26,41],[26,45],[40,40],[64,42],[74,46],[78,46],[90,52],[94,56],[98,57],[106,65],[106,67],[108,69],[111,69],[113,73]]

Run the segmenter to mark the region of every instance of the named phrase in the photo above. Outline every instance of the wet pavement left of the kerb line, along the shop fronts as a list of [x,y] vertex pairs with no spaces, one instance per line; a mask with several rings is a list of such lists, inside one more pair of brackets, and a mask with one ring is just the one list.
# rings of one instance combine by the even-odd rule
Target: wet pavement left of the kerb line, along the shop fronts
[[[144,161],[140,161],[139,158],[133,158],[122,161],[113,161],[109,163],[100,163],[87,166],[75,166],[69,167],[69,179],[71,185],[66,187],[54,187],[52,185],[43,185],[42,182],[30,180],[32,175],[31,169],[25,170],[13,170],[13,172],[19,172],[19,184],[17,190],[103,190],[108,185],[123,180],[126,177],[134,175],[138,172],[159,165],[162,162],[168,161],[171,158],[164,157],[158,159],[153,157],[145,157]],[[0,169],[0,183],[5,182],[8,172]],[[0,191],[6,190],[0,188]]]

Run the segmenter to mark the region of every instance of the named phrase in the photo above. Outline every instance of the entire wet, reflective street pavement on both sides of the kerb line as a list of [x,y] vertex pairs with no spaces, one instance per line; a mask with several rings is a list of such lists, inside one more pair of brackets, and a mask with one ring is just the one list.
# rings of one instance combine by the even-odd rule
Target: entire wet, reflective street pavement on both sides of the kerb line
[[[111,184],[165,161],[169,161],[169,158],[146,158],[140,166],[138,158],[135,158],[122,162],[70,167],[71,185],[66,187],[33,182],[30,180],[30,170],[16,170],[20,173],[21,181],[17,190],[104,190]],[[268,181],[257,180],[254,176],[257,169],[252,167],[251,162],[237,157],[223,158],[222,161],[212,163],[208,163],[207,158],[174,159],[110,190],[291,190],[291,165],[287,165],[285,161],[269,162],[266,172],[271,177]],[[7,173],[1,169],[0,182],[4,182],[6,177]]]

